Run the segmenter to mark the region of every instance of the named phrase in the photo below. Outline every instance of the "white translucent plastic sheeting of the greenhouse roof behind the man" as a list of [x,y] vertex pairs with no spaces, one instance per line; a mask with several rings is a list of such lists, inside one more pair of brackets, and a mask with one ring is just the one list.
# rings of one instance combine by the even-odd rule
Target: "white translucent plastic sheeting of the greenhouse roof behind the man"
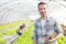
[[[0,0],[0,24],[12,23],[22,20],[35,20],[40,16],[37,11],[37,0]],[[66,22],[66,2],[46,1],[48,13],[57,22]]]

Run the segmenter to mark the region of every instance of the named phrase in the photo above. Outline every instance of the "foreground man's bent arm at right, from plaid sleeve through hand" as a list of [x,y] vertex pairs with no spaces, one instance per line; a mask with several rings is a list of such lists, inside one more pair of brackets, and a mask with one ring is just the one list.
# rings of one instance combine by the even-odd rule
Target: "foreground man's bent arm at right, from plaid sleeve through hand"
[[57,33],[57,35],[56,36],[53,35],[53,36],[51,36],[51,38],[46,38],[45,42],[53,42],[53,41],[56,41],[57,38],[62,37],[63,30],[62,30],[61,25],[58,25],[57,22],[55,23],[55,32]]

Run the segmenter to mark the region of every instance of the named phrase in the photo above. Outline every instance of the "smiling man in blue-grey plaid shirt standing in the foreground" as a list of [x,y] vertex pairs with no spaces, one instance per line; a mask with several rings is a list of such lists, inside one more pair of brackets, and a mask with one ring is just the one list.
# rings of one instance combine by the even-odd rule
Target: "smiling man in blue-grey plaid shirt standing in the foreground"
[[48,16],[47,8],[48,7],[45,2],[40,2],[37,6],[41,18],[34,23],[34,44],[56,44],[56,40],[63,35],[63,31],[57,22]]

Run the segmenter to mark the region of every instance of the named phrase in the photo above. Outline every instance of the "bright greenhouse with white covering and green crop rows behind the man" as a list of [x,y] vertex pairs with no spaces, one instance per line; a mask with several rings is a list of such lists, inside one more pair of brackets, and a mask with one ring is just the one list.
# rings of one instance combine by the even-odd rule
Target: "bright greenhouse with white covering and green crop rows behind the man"
[[[33,44],[34,21],[41,15],[38,2],[46,2],[48,15],[54,18],[64,31],[57,44],[66,44],[66,0],[0,0],[0,44]],[[25,24],[25,32],[18,30]]]

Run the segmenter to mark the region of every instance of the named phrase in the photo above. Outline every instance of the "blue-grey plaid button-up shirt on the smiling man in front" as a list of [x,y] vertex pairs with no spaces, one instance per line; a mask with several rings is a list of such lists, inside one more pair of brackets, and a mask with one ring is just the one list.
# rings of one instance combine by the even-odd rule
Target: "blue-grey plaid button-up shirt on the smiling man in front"
[[[44,38],[52,36],[54,33],[63,33],[63,30],[53,18],[47,19],[44,23],[44,26],[41,24],[41,19],[37,19],[34,23],[35,30],[33,33],[33,40],[36,40],[37,44],[45,44]],[[56,41],[47,44],[56,44]]]

